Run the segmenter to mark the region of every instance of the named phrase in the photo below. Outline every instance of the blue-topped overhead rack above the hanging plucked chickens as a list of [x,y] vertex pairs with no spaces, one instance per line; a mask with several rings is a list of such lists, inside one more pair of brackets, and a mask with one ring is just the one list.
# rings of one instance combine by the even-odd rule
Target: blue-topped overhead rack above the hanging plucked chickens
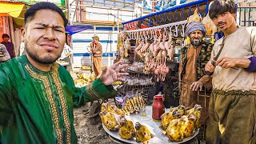
[[180,22],[192,15],[196,8],[198,8],[198,13],[201,14],[202,17],[205,17],[208,13],[210,1],[212,0],[198,0],[179,6],[173,6],[166,10],[122,22],[122,25],[124,25],[125,30],[136,30],[142,28],[142,26],[152,27],[165,25],[170,22]]

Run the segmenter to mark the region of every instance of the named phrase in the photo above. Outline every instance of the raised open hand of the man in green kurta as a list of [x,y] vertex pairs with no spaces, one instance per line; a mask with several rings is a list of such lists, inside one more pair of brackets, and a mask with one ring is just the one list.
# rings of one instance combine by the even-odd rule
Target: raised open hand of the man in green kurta
[[119,70],[125,69],[128,65],[122,65],[122,62],[116,62],[114,65],[110,67],[105,67],[102,70],[102,75],[100,76],[100,79],[102,80],[102,83],[106,86],[111,85],[113,82],[116,81],[122,81],[124,82],[125,79],[122,78],[122,76],[129,75],[128,73],[119,73]]

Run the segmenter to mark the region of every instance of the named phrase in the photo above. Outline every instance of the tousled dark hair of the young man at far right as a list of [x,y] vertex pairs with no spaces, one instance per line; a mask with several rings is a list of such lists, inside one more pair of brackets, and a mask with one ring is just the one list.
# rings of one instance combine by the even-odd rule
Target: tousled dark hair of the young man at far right
[[218,14],[230,12],[235,14],[237,11],[236,5],[233,0],[214,0],[210,5],[209,16],[211,19],[217,18]]

